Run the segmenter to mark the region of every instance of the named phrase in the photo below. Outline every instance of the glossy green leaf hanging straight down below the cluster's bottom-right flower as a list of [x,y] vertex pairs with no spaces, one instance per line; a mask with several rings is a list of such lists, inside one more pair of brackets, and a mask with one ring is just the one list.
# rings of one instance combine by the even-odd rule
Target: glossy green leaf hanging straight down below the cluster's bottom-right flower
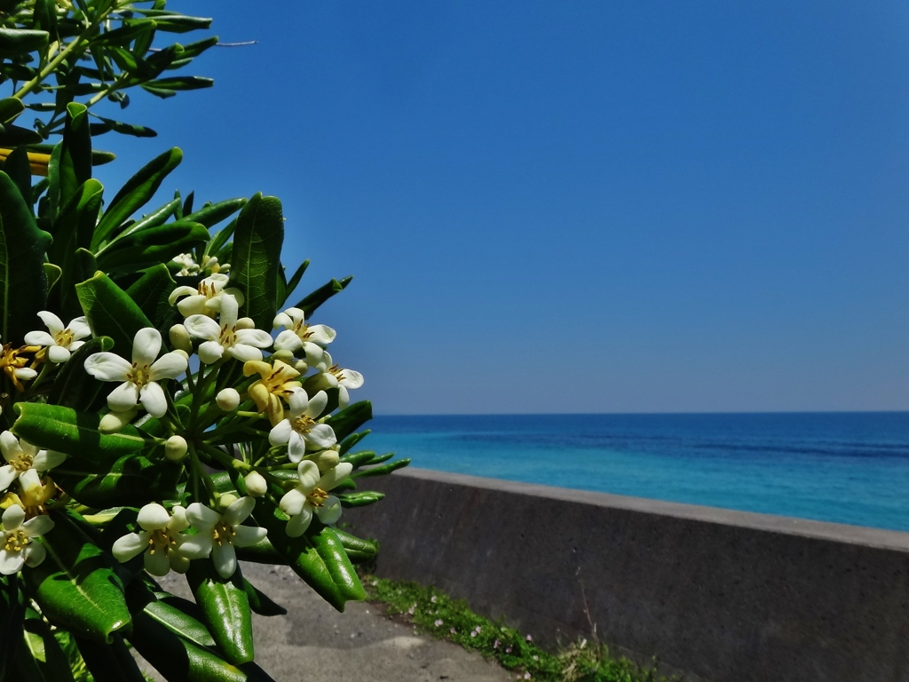
[[235,665],[252,661],[255,658],[253,615],[240,568],[237,567],[233,577],[225,579],[217,574],[210,560],[193,561],[186,579],[195,603],[205,615],[205,625],[225,658]]

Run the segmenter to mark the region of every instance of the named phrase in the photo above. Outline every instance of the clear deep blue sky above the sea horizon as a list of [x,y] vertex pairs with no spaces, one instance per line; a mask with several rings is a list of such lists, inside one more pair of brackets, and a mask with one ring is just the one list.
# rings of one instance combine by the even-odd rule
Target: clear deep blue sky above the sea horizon
[[376,413],[909,409],[904,2],[170,5],[102,180],[279,196]]

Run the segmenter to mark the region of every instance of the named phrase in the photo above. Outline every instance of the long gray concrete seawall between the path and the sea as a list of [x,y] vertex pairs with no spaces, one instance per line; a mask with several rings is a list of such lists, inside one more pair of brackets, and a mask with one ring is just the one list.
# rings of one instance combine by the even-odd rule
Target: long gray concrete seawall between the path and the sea
[[351,510],[378,575],[535,638],[589,637],[714,682],[909,682],[909,534],[405,469]]

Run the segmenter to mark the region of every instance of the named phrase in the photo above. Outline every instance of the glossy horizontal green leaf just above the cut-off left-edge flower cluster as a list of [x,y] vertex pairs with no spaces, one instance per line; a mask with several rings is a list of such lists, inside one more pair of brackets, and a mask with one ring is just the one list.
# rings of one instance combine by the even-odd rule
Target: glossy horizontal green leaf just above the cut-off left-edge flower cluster
[[103,434],[99,429],[101,415],[78,412],[72,407],[16,403],[15,409],[19,413],[13,425],[16,436],[38,447],[91,457],[99,466],[109,466],[122,456],[135,455],[155,445],[155,441],[128,424],[115,434]]

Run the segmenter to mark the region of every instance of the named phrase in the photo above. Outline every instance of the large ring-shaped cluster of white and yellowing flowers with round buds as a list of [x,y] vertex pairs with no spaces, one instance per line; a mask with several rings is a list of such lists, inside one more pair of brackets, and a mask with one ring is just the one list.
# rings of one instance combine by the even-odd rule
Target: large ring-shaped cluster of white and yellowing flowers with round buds
[[[187,271],[190,269],[187,265]],[[290,517],[288,536],[302,535],[314,516],[325,525],[335,524],[341,516],[341,502],[329,491],[353,470],[349,463],[340,462],[335,432],[325,423],[327,392],[336,389],[337,405],[343,408],[350,401],[349,391],[363,386],[364,379],[359,372],[337,366],[327,352],[335,330],[308,325],[304,311],[291,307],[275,316],[274,329],[281,331],[273,339],[268,331],[256,329],[251,318],[240,316],[244,297],[227,283],[227,276],[215,272],[195,287],[174,290],[170,303],[185,318],[169,330],[175,350],[159,357],[162,337],[149,327],[135,335],[131,360],[110,352],[95,353],[85,360],[89,375],[120,382],[107,396],[111,412],[102,420],[102,430],[122,428],[142,409],[150,416],[163,417],[175,430],[165,443],[165,456],[171,461],[186,456],[190,434],[175,426],[179,419],[161,384],[192,375],[189,367],[194,354],[199,360],[197,381],[218,376],[221,366],[232,359],[243,363],[241,383],[219,386],[215,405],[223,414],[252,403],[255,412],[238,413],[236,418],[268,419],[270,424],[268,462],[262,466],[247,462],[242,469],[246,496],[237,499],[205,491],[204,499],[191,498],[191,504],[172,506],[169,511],[157,503],[145,505],[137,517],[140,530],[115,542],[113,552],[118,560],[128,561],[144,552],[145,570],[155,576],[170,570],[183,573],[190,560],[205,557],[212,557],[223,577],[233,575],[234,547],[253,545],[265,537],[265,528],[241,524],[253,512],[255,498],[268,495],[270,488],[283,492],[280,499],[271,499]],[[35,337],[35,342],[39,340],[47,342],[45,337]],[[271,356],[266,357],[264,351],[270,348]],[[185,386],[193,386],[189,376]],[[226,451],[222,454],[229,456]],[[269,466],[288,462],[297,465],[295,479],[269,474]],[[198,494],[196,490],[194,495]]]

